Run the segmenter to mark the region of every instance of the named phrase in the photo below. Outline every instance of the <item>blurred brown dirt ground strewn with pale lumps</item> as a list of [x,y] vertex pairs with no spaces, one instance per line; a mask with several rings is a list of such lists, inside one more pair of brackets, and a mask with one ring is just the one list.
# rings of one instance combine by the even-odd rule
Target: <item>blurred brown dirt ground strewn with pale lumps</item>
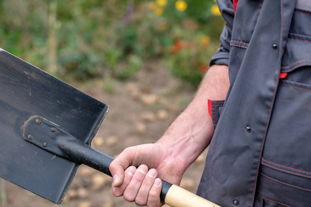
[[[191,86],[172,78],[166,69],[156,67],[156,64],[145,66],[129,81],[96,80],[71,84],[110,106],[92,146],[111,156],[116,156],[126,147],[159,139],[194,94]],[[103,90],[107,86],[110,90]],[[206,151],[185,172],[183,188],[196,192],[205,155]],[[56,205],[0,179],[0,206],[135,206],[122,197],[114,197],[111,182],[111,177],[80,166],[64,201]]]

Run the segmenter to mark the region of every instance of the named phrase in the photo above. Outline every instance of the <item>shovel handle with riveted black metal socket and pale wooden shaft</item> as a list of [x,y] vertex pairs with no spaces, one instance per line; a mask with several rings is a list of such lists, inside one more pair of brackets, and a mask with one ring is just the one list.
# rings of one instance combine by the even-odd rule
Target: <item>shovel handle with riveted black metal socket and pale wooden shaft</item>
[[[111,176],[109,166],[113,157],[91,148],[53,122],[39,116],[30,117],[22,127],[22,134],[23,139],[53,155],[85,164]],[[166,181],[162,181],[160,200],[172,207],[218,206]]]

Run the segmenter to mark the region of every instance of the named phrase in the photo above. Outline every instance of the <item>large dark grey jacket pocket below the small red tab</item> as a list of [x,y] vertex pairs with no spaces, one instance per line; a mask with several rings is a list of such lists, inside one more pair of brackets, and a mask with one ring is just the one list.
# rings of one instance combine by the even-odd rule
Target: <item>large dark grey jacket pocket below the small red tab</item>
[[311,85],[281,80],[267,130],[263,161],[289,176],[311,181],[310,146]]

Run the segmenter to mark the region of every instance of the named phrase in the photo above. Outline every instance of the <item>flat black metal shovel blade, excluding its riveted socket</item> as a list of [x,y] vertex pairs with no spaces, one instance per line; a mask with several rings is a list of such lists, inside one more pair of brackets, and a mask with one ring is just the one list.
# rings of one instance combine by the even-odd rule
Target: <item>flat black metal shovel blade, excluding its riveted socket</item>
[[106,104],[0,49],[0,177],[59,204],[79,166],[25,141],[34,115],[91,144]]

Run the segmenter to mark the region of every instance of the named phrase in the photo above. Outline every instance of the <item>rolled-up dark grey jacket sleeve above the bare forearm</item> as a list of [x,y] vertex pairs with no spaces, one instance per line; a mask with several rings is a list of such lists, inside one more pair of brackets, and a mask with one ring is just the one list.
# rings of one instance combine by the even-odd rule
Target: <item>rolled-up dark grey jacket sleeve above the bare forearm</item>
[[226,24],[223,32],[220,34],[220,46],[216,53],[211,57],[209,66],[228,65],[230,41],[232,36],[232,26],[234,22],[234,7],[230,0],[218,0],[218,8]]

